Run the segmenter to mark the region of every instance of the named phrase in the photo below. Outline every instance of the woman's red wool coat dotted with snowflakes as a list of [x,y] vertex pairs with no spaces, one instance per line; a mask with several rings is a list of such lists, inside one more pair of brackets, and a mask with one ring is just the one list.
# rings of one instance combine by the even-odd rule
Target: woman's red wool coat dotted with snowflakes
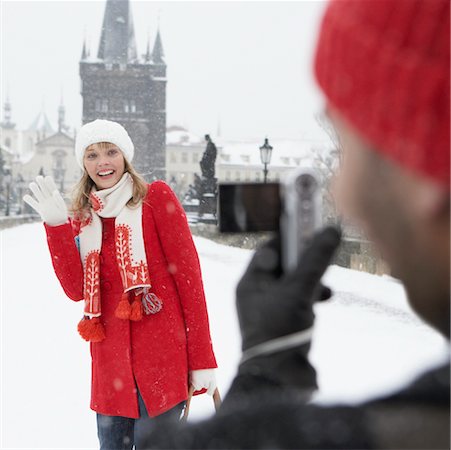
[[[138,322],[118,319],[114,312],[122,281],[114,220],[102,218],[101,321],[106,338],[91,343],[91,408],[138,418],[137,386],[149,415],[157,416],[186,400],[188,371],[217,367],[199,259],[176,196],[162,181],[150,184],[142,209],[143,235],[152,291],[163,308]],[[74,240],[76,225],[45,228],[56,275],[67,296],[78,301],[83,299],[83,266]]]

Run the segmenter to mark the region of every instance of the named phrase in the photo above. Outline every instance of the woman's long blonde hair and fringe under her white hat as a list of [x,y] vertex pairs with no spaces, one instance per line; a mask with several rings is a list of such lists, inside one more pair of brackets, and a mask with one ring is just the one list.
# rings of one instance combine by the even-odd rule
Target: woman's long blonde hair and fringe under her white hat
[[[99,142],[96,144],[91,144],[85,149],[98,149],[105,150],[111,147],[109,142]],[[141,177],[141,175],[136,172],[135,168],[127,161],[124,157],[124,172],[128,172],[133,181],[133,196],[127,202],[127,206],[134,207],[137,206],[147,195],[147,183]],[[70,211],[74,218],[78,220],[83,220],[90,215],[91,200],[89,194],[94,187],[94,181],[91,180],[86,169],[83,171],[83,176],[80,181],[74,186],[72,191],[72,205]]]

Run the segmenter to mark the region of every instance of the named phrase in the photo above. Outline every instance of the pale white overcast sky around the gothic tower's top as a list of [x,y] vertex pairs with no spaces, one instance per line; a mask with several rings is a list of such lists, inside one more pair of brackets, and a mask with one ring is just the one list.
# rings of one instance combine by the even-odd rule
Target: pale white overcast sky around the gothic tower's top
[[[97,54],[105,1],[1,0],[1,97],[26,128],[42,107],[56,127],[81,125],[84,36]],[[168,124],[225,138],[318,135],[322,98],[312,57],[324,3],[131,1],[138,53],[160,23]],[[158,19],[159,18],[159,19]]]

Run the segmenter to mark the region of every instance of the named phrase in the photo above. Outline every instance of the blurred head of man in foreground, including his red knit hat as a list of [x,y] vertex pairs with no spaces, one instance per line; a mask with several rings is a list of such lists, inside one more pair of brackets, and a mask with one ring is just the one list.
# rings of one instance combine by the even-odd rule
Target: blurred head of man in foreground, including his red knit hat
[[449,1],[333,1],[316,75],[343,150],[336,188],[449,335]]

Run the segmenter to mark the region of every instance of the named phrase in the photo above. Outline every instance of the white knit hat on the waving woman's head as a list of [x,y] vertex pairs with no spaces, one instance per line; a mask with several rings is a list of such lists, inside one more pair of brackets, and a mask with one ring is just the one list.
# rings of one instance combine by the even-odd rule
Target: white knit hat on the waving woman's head
[[122,150],[125,159],[131,162],[135,147],[126,129],[117,122],[97,119],[84,124],[75,139],[75,158],[78,165],[84,169],[83,157],[85,150],[92,144],[111,142]]

